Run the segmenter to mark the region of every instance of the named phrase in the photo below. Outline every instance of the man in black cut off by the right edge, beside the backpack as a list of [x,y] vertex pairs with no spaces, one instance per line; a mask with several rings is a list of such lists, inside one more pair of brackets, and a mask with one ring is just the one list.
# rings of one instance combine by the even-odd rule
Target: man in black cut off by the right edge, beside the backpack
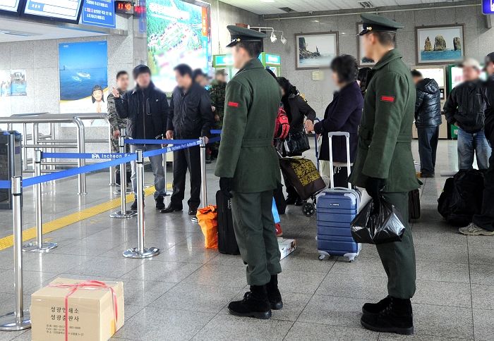
[[[489,75],[484,83],[486,89],[486,120],[484,131],[490,143],[494,146],[494,52],[486,56],[485,69]],[[484,173],[484,189],[482,209],[474,216],[474,221],[459,229],[464,235],[494,235],[494,154],[490,155],[489,168]]]

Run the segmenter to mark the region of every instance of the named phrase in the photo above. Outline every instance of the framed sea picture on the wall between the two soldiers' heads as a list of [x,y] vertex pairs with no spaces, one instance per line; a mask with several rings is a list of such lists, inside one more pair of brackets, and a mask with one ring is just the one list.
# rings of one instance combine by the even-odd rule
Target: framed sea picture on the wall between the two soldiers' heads
[[339,54],[338,32],[299,33],[295,43],[297,70],[329,68]]

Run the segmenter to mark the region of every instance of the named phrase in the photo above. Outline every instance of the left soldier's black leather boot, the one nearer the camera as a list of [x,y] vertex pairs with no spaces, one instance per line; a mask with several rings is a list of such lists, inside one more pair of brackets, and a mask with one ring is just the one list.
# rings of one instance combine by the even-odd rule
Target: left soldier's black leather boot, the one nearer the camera
[[243,317],[271,318],[270,301],[267,299],[265,285],[251,285],[251,291],[243,295],[243,300],[230,302],[231,315]]

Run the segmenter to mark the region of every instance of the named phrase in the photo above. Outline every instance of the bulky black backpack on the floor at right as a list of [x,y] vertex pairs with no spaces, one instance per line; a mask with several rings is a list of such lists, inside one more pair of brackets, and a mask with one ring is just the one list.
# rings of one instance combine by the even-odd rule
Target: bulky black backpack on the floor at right
[[476,169],[459,171],[446,180],[438,199],[438,211],[448,223],[465,226],[480,213],[483,197],[483,173]]

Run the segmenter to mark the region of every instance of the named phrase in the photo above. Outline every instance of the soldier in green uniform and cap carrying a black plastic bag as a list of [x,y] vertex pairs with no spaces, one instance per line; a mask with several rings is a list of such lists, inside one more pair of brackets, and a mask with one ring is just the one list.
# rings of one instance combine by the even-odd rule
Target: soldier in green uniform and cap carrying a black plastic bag
[[365,187],[375,202],[382,195],[402,213],[406,226],[401,242],[377,245],[388,278],[388,296],[376,304],[364,304],[361,324],[383,333],[412,334],[410,299],[415,293],[416,271],[408,192],[419,187],[411,154],[416,89],[402,54],[394,49],[396,31],[403,25],[370,13],[361,18],[365,54],[376,64],[367,79],[350,182]]

